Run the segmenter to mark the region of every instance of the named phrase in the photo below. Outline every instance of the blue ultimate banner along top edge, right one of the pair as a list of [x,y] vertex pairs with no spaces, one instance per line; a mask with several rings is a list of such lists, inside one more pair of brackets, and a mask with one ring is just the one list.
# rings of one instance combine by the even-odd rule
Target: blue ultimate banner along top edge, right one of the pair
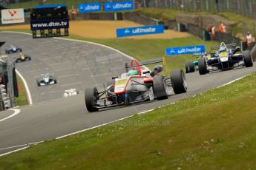
[[105,2],[105,12],[114,12],[120,10],[134,10],[134,1],[116,1],[116,2]]

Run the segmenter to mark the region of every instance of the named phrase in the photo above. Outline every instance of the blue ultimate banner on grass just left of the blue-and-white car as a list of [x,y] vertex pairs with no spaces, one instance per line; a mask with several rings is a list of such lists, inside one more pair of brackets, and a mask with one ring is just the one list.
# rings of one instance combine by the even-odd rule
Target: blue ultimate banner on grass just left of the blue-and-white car
[[189,47],[169,47],[165,50],[166,55],[183,55],[183,54],[195,54],[205,52],[204,45],[189,46]]

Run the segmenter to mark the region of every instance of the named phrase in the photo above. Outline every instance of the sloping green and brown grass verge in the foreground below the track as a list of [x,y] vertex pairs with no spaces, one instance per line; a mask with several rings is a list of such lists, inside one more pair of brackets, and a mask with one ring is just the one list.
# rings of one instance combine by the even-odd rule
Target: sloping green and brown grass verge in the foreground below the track
[[255,169],[255,79],[0,157],[0,169]]

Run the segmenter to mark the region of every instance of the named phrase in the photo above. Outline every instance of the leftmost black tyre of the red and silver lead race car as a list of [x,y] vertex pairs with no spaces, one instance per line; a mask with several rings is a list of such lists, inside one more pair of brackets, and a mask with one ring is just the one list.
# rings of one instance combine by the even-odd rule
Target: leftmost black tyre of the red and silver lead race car
[[88,112],[96,112],[99,110],[94,107],[97,101],[96,95],[98,95],[96,87],[85,89],[85,106]]

